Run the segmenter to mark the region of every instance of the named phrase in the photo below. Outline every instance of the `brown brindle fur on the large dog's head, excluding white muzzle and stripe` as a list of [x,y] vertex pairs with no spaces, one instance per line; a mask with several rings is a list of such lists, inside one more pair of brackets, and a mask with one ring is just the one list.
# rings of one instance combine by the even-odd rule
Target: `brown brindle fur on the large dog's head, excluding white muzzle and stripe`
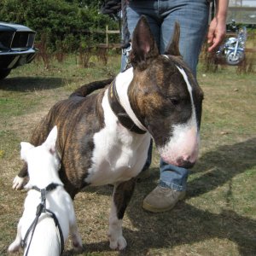
[[[137,37],[142,33],[140,30],[142,27],[137,26],[134,32]],[[183,67],[190,84],[195,84],[193,91],[196,113],[198,123],[201,122],[203,92],[189,67],[182,61],[178,49],[179,35],[179,26],[176,23],[172,42],[166,49],[168,59],[164,55],[159,55],[155,44],[151,44],[152,50],[149,53],[144,50],[146,54],[142,57],[143,44],[140,44],[137,37],[132,41],[132,45],[138,44],[138,47],[131,52],[131,63],[134,65],[134,77],[128,92],[131,108],[140,122],[147,127],[158,146],[164,145],[169,139],[170,132],[166,131],[165,127],[169,129],[170,126],[167,124],[183,124],[191,115],[189,91],[181,73],[177,73],[177,66]],[[178,102],[178,106],[175,102]]]

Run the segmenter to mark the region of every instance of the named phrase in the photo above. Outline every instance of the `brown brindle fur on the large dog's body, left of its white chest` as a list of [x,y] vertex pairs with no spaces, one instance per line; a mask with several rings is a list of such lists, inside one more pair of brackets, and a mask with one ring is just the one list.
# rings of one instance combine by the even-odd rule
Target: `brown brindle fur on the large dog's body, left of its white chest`
[[32,134],[32,143],[38,145],[57,125],[60,177],[73,198],[86,185],[84,178],[91,165],[93,136],[104,127],[101,102],[105,90],[85,98],[73,96],[56,103]]

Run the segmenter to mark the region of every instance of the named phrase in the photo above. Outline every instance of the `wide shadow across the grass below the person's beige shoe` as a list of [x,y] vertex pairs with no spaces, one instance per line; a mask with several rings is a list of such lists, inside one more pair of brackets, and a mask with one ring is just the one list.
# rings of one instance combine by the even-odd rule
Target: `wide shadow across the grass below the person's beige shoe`
[[[139,206],[135,204],[134,207]],[[158,216],[148,212],[138,216],[131,210],[128,215],[137,230],[124,230],[129,244],[127,252],[124,253],[126,255],[131,255],[130,250],[133,248],[136,248],[137,255],[146,255],[149,248],[164,250],[212,239],[234,242],[239,255],[254,255],[256,250],[256,221],[241,217],[233,211],[224,210],[215,214],[182,202],[172,212],[160,213]],[[204,250],[202,255],[207,255],[209,251],[207,248]],[[212,250],[214,251],[214,255],[218,255],[218,248]]]

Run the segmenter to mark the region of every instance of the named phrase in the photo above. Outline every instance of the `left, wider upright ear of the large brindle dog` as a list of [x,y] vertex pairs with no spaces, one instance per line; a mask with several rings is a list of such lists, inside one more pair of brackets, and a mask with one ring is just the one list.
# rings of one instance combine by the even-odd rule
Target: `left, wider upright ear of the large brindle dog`
[[159,55],[154,36],[145,16],[142,16],[137,22],[132,35],[131,48],[131,65],[140,70],[147,68],[148,61]]

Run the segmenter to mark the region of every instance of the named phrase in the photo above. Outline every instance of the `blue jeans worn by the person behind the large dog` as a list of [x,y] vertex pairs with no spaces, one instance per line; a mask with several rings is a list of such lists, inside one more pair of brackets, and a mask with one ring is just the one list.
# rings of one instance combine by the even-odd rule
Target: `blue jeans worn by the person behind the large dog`
[[[135,29],[141,15],[147,17],[154,40],[164,54],[172,38],[174,23],[180,25],[179,50],[191,71],[196,75],[201,45],[207,33],[209,3],[207,0],[134,0],[127,6],[127,21],[130,34]],[[121,68],[125,68],[125,55],[122,55]],[[148,149],[148,160],[151,162],[152,145]],[[145,169],[145,167],[143,169]],[[160,185],[163,187],[185,190],[189,171],[172,166],[160,160]]]

